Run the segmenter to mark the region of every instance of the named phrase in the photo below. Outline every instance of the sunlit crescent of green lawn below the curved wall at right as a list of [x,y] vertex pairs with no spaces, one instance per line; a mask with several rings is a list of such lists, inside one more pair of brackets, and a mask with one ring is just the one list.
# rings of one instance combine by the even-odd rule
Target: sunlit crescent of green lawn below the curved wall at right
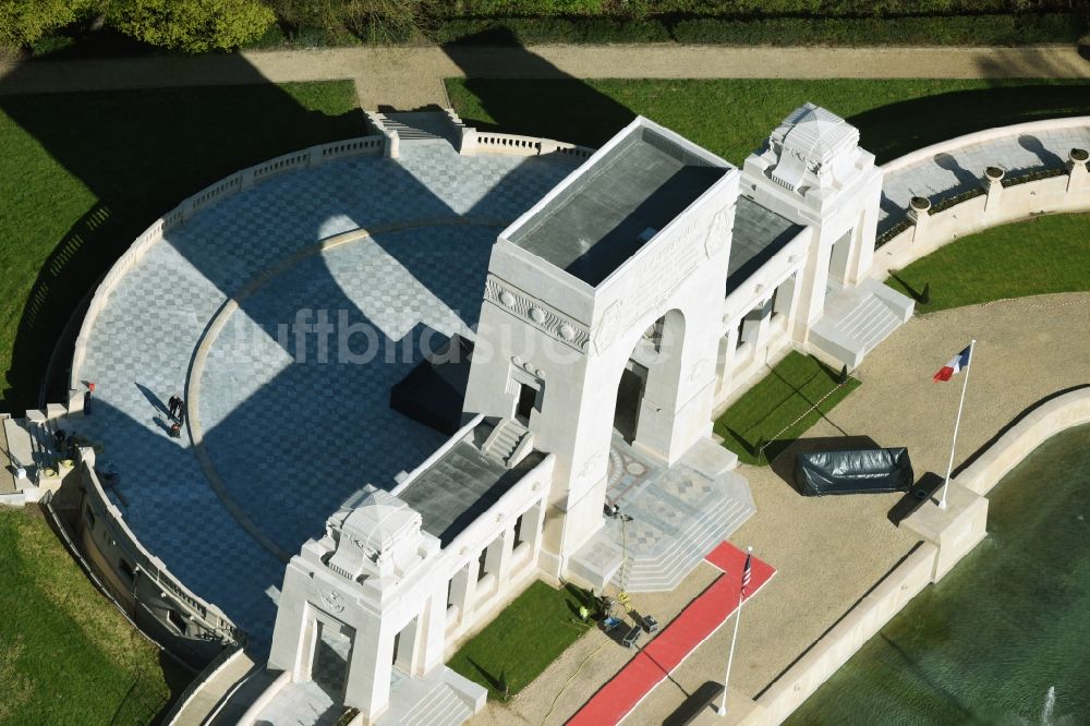
[[[887,280],[919,313],[989,300],[1090,290],[1090,215],[1036,217],[961,238]],[[920,301],[930,286],[930,302]]]

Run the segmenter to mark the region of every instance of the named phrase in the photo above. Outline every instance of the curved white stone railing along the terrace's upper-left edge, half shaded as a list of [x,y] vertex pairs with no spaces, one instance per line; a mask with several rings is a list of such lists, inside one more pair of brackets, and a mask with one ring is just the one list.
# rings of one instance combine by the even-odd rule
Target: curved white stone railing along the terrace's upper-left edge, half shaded
[[[312,146],[302,152],[286,154],[275,159],[269,159],[256,166],[237,171],[230,177],[222,179],[210,186],[206,186],[193,196],[184,199],[177,207],[155,220],[143,234],[129,246],[123,255],[113,264],[106,277],[98,283],[95,297],[90,301],[87,313],[84,315],[80,335],[75,341],[75,352],[72,356],[72,373],[69,387],[75,389],[80,380],[80,367],[86,354],[87,335],[90,331],[98,314],[102,312],[106,301],[118,281],[132,268],[133,265],[147,252],[152,245],[162,239],[171,228],[185,222],[190,217],[215,204],[219,199],[235,194],[254,184],[265,181],[286,171],[295,169],[306,169],[317,167],[337,159],[349,156],[382,156],[385,150],[386,140],[383,136],[362,136],[347,141],[334,142]],[[73,401],[75,397],[73,397]],[[81,399],[82,400],[82,399]]]

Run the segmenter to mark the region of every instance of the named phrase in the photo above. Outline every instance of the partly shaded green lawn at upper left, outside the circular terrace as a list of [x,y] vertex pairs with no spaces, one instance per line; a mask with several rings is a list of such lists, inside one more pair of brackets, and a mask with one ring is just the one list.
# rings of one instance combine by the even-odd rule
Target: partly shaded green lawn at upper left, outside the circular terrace
[[73,308],[157,217],[241,168],[364,132],[349,81],[254,84],[0,96],[0,411],[36,404]]

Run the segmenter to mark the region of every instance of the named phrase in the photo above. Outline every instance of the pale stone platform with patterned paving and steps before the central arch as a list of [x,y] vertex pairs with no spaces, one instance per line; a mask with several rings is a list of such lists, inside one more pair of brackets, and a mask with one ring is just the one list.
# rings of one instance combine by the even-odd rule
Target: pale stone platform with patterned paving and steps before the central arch
[[571,559],[571,573],[601,591],[674,590],[717,544],[755,511],[746,480],[730,471],[737,457],[711,439],[698,441],[673,467],[634,450],[615,434],[606,498],[621,517]]

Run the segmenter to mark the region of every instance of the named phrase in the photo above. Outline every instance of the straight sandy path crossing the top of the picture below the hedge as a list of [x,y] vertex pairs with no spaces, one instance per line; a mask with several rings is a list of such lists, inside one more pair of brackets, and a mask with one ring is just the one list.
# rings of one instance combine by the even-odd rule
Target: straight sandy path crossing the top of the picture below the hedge
[[421,47],[228,56],[0,61],[0,94],[353,78],[365,109],[447,106],[445,77],[1090,78],[1075,47],[772,48],[720,46]]

